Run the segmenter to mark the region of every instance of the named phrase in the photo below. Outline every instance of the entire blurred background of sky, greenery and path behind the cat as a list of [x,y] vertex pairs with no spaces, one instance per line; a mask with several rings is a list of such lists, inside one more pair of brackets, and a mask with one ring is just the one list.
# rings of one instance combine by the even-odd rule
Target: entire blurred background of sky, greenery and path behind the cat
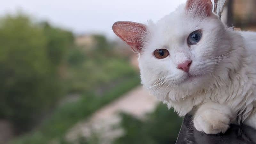
[[[174,144],[182,118],[140,85],[115,21],[157,21],[186,0],[0,4],[0,144]],[[223,21],[256,30],[256,1]]]

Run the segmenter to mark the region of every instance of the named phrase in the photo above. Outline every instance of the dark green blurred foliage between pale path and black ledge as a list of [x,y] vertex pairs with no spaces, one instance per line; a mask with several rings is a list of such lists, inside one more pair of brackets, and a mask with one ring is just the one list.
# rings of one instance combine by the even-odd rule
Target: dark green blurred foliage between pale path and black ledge
[[125,134],[115,144],[174,144],[182,123],[182,119],[164,104],[160,104],[145,121],[127,114],[122,117]]

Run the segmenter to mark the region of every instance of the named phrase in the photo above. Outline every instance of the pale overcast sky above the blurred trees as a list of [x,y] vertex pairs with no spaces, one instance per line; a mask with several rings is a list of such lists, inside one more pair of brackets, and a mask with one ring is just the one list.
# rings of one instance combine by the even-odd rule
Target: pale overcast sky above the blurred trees
[[186,0],[2,0],[0,15],[18,10],[37,20],[68,28],[76,34],[100,33],[115,38],[112,24],[129,20],[157,21]]

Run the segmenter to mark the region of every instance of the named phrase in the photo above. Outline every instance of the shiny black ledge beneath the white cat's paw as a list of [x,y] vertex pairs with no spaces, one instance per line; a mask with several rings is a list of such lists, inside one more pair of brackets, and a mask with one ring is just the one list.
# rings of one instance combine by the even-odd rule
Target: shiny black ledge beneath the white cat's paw
[[182,123],[176,144],[256,144],[256,130],[245,125],[231,124],[225,134],[207,135],[198,132],[187,115]]

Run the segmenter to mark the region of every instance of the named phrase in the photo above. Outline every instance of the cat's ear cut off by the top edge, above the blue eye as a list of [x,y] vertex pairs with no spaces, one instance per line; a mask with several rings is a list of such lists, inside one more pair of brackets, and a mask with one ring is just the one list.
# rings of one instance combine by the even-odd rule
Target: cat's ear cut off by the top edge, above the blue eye
[[188,0],[186,4],[187,12],[194,15],[211,16],[212,7],[211,0]]

